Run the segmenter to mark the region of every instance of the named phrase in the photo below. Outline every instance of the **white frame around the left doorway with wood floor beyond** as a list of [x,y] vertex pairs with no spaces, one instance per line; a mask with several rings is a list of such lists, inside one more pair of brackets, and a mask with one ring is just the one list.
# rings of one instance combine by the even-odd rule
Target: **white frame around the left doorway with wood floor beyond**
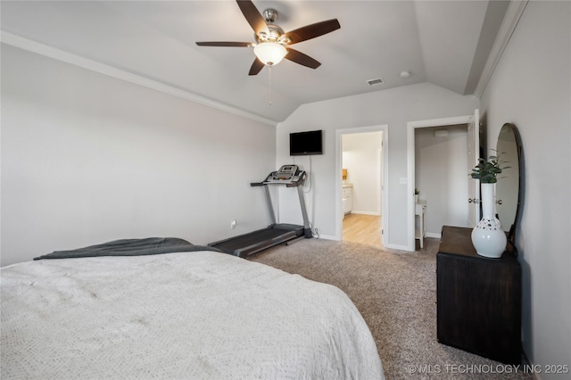
[[382,227],[382,242],[383,246],[389,247],[389,242],[386,241],[388,233],[388,172],[389,172],[389,160],[388,160],[388,141],[389,141],[389,126],[388,124],[368,126],[368,127],[356,127],[356,128],[344,128],[335,130],[335,240],[343,240],[343,135],[353,135],[356,133],[367,133],[367,132],[382,132],[382,145],[383,145],[383,168],[381,173],[381,226]]

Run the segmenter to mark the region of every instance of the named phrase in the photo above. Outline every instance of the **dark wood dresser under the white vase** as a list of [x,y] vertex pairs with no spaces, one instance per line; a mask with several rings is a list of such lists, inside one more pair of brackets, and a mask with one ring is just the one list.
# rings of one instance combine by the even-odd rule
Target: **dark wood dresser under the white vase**
[[521,363],[521,266],[504,252],[479,256],[471,228],[443,227],[436,254],[438,342]]

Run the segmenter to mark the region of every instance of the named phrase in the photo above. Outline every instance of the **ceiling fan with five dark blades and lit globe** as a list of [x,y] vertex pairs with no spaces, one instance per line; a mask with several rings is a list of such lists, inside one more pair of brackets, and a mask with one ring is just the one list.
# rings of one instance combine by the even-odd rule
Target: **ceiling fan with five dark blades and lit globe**
[[251,0],[236,0],[236,3],[252,27],[256,42],[197,42],[196,45],[253,47],[256,59],[252,63],[248,75],[256,75],[264,65],[273,66],[284,58],[311,69],[317,69],[321,65],[320,62],[307,54],[292,49],[289,45],[323,36],[341,28],[339,21],[332,19],[284,32],[284,29],[274,24],[274,21],[277,20],[275,9],[266,9],[262,16]]

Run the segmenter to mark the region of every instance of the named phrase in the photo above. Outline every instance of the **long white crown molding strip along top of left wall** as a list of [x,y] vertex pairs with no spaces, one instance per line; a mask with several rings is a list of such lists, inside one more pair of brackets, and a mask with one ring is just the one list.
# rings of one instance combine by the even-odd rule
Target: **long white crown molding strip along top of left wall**
[[179,98],[186,99],[194,103],[207,105],[209,107],[218,109],[220,111],[233,113],[235,115],[242,116],[244,118],[248,118],[255,121],[260,121],[261,123],[268,124],[272,127],[277,126],[276,120],[269,120],[259,115],[255,115],[253,113],[245,112],[243,110],[229,106],[228,104],[219,103],[207,97],[196,95],[189,91],[173,87],[150,78],[145,78],[144,76],[128,72],[127,70],[120,70],[111,65],[107,65],[101,62],[96,62],[94,60],[90,60],[88,58],[79,56],[77,54],[71,54],[63,50],[54,48],[52,46],[44,45],[37,41],[32,41],[28,38],[16,36],[12,33],[5,32],[4,30],[2,30],[2,35],[0,40],[3,44],[19,47],[23,50],[27,50],[29,52],[36,54],[41,54],[61,62],[70,63],[72,65],[79,66],[83,69],[98,72],[108,77],[125,80],[127,82],[151,88],[156,91],[161,91],[162,93],[165,94],[177,96]]

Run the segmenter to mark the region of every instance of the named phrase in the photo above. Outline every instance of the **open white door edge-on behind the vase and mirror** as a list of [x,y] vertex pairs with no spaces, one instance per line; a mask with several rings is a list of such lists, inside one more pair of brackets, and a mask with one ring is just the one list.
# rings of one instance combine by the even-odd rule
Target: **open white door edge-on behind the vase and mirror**
[[[468,173],[477,165],[480,156],[480,112],[474,110],[468,122]],[[480,221],[480,181],[468,177],[468,204],[470,226]]]

